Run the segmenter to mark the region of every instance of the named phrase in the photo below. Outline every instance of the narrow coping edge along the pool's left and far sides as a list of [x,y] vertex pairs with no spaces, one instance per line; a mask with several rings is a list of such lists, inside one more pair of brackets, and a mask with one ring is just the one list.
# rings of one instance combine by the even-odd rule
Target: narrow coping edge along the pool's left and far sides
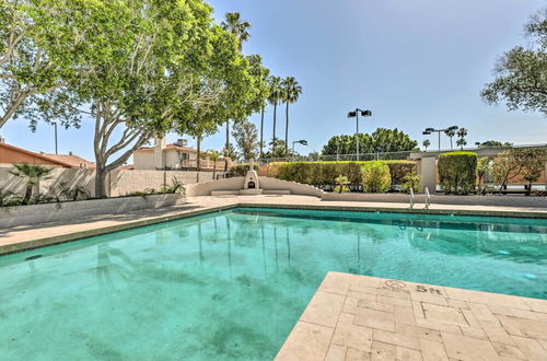
[[[442,206],[442,205],[439,205]],[[269,209],[301,209],[301,210],[331,210],[331,211],[357,211],[357,212],[386,212],[386,213],[411,213],[411,214],[433,214],[433,216],[470,216],[470,217],[498,217],[498,218],[527,218],[527,219],[547,219],[547,212],[542,211],[517,211],[517,210],[477,210],[477,209],[451,209],[451,208],[414,208],[403,207],[377,207],[366,205],[303,205],[303,203],[272,203],[267,201],[248,202],[237,198],[229,199],[228,203],[218,206],[207,206],[195,210],[185,210],[168,216],[149,217],[137,221],[127,221],[114,225],[101,226],[91,230],[67,232],[65,234],[36,237],[32,240],[13,242],[0,245],[0,256],[32,251],[36,248],[53,246],[72,241],[79,241],[86,237],[104,235],[108,233],[131,230],[144,225],[163,223],[195,216],[212,213],[222,210],[235,208],[269,208]],[[105,214],[108,217],[108,214]]]

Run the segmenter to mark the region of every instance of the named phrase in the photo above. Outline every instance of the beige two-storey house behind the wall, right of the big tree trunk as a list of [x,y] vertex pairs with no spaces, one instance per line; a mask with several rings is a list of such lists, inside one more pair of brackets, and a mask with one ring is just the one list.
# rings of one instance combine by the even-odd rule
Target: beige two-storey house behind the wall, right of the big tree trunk
[[[135,170],[196,171],[198,151],[188,148],[184,139],[167,144],[165,139],[156,140],[154,147],[138,149],[133,152]],[[212,162],[206,152],[201,152],[200,170],[224,170],[224,160]],[[216,164],[214,164],[216,163]]]

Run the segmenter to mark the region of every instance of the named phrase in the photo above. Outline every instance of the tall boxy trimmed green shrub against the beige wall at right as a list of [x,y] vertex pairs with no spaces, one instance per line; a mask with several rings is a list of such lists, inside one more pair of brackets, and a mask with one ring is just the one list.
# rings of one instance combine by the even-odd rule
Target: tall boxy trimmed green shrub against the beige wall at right
[[439,155],[439,180],[445,194],[467,195],[477,184],[477,153],[450,152]]

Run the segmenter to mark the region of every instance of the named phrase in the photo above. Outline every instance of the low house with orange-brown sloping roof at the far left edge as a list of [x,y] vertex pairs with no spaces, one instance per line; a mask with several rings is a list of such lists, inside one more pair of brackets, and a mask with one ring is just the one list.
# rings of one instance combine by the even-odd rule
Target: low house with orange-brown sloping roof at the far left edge
[[0,142],[0,167],[11,167],[14,163],[42,164],[65,168],[94,168],[95,163],[73,154],[34,153],[4,142]]

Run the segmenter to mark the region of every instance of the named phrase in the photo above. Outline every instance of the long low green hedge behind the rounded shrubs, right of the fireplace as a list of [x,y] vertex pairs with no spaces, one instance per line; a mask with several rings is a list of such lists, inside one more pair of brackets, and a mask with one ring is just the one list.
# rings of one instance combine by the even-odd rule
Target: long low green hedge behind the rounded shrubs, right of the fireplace
[[[389,167],[392,185],[401,185],[406,174],[415,171],[416,162],[376,161]],[[313,185],[334,185],[345,175],[351,184],[362,184],[361,167],[369,162],[278,162],[268,165],[268,176]]]

